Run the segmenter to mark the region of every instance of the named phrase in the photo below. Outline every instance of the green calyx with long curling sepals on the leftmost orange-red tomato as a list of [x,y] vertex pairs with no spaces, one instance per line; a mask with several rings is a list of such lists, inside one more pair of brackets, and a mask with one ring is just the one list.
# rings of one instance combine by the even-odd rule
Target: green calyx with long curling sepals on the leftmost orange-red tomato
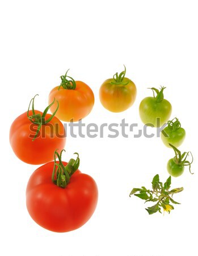
[[[39,95],[39,94],[36,94],[35,97],[36,97],[37,95]],[[28,119],[29,119],[32,123],[35,123],[35,125],[38,125],[37,130],[36,130],[35,137],[33,137],[32,141],[34,141],[34,140],[36,139],[36,137],[37,137],[37,135],[38,135],[38,133],[39,133],[39,131],[40,131],[40,129],[41,129],[41,126],[42,126],[42,125],[46,125],[47,123],[49,123],[49,122],[52,120],[52,118],[53,118],[54,115],[56,114],[56,112],[57,112],[57,110],[58,110],[58,106],[59,106],[58,101],[57,101],[57,108],[56,108],[56,110],[54,111],[54,113],[53,113],[47,120],[45,120],[45,115],[47,114],[47,112],[48,112],[48,110],[51,108],[51,106],[54,104],[55,98],[54,98],[53,102],[52,102],[49,106],[47,106],[47,108],[44,110],[43,114],[41,115],[41,114],[36,114],[36,113],[35,113],[35,107],[34,107],[35,97],[33,97],[33,98],[31,99],[30,104],[29,104],[29,107],[28,107],[28,110],[27,110],[27,117],[28,117]],[[32,115],[29,115],[31,103],[32,103],[32,113],[33,113],[33,114],[32,114]]]

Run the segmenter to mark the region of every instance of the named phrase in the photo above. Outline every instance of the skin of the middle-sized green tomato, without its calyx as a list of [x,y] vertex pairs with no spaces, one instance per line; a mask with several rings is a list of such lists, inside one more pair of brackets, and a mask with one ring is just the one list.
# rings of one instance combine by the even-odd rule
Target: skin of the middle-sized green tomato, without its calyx
[[161,139],[167,147],[171,147],[168,143],[171,143],[175,147],[179,147],[186,137],[186,131],[182,127],[175,131],[169,129],[168,127],[165,127],[163,130],[168,137],[165,137],[165,135],[161,133]]

